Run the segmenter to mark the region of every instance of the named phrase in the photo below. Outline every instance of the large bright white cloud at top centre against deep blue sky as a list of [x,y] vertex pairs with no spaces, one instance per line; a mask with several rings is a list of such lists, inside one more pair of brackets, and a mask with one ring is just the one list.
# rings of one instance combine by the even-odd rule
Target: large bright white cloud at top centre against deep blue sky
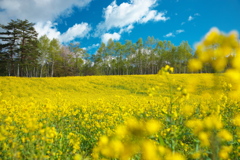
[[[121,3],[119,6],[114,0],[104,9],[104,22],[97,26],[96,35],[109,31],[112,28],[123,29],[133,26],[134,23],[147,23],[148,21],[166,21],[166,12],[158,12],[151,8],[157,5],[157,0],[131,0],[129,3]],[[133,27],[132,27],[133,28]]]

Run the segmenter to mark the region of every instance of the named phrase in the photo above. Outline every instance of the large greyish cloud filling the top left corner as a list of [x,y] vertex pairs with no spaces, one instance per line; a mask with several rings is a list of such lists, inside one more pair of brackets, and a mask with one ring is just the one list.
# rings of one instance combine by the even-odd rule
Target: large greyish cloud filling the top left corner
[[46,22],[60,15],[72,13],[72,7],[84,7],[92,0],[0,0],[0,23],[9,19],[28,19],[31,22]]

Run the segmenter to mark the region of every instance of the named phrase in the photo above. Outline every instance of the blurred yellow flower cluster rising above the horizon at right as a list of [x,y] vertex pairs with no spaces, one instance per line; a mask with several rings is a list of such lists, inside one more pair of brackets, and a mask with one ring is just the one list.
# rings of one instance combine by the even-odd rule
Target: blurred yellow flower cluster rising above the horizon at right
[[189,69],[192,71],[201,70],[203,63],[210,63],[216,72],[224,71],[229,63],[234,70],[239,71],[238,33],[233,31],[226,35],[212,28],[196,45],[196,54],[198,58],[189,61]]

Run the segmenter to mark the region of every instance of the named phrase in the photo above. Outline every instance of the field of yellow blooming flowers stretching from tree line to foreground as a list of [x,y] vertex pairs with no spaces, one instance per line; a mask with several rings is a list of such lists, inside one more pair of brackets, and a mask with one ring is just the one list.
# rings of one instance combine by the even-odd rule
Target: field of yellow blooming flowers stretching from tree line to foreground
[[223,75],[0,78],[1,159],[238,159]]

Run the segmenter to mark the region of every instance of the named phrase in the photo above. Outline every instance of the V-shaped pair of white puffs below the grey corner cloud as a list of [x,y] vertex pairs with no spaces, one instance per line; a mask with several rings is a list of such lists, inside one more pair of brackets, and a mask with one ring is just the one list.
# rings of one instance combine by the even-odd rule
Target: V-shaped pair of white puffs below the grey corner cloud
[[85,37],[91,27],[88,23],[75,24],[73,27],[70,27],[65,33],[61,34],[57,28],[57,24],[53,24],[51,21],[46,23],[39,22],[34,27],[39,33],[38,36],[47,35],[49,39],[58,38],[62,43],[70,42],[75,38]]

